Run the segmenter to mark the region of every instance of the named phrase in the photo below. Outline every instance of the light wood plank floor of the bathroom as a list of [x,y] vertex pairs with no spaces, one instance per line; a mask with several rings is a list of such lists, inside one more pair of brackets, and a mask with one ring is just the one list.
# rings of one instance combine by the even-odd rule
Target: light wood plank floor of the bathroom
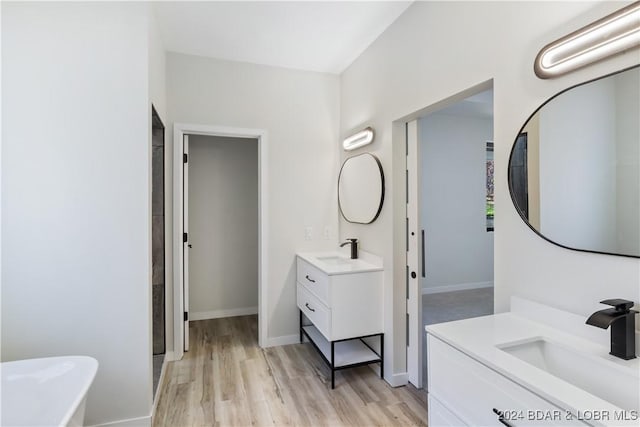
[[367,366],[330,370],[309,343],[261,349],[257,316],[191,322],[191,349],[168,364],[154,426],[426,425],[426,393]]

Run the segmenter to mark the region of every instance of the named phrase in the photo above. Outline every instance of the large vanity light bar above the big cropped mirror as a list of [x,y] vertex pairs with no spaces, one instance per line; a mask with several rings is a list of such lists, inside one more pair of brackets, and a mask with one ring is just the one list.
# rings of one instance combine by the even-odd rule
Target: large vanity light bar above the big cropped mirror
[[534,63],[548,79],[640,45],[640,1],[549,43]]

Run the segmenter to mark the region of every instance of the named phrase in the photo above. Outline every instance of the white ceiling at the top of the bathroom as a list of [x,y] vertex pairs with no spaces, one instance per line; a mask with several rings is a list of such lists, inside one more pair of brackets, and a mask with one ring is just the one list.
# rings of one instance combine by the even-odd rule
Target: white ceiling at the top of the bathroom
[[411,1],[154,3],[168,51],[341,73]]

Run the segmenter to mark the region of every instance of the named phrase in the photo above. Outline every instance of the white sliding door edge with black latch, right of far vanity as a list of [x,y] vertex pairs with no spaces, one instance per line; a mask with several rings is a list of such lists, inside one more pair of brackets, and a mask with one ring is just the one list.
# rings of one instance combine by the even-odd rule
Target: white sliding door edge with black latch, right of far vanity
[[420,286],[420,147],[418,122],[407,123],[407,371],[409,382],[422,388],[422,289]]

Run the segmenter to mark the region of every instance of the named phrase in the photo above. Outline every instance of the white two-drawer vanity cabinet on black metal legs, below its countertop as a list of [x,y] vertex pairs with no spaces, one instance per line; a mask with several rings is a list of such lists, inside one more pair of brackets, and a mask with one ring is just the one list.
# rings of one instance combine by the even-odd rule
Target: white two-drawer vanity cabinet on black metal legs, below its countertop
[[[329,274],[298,256],[296,270],[300,340],[306,336],[331,368],[331,387],[336,370],[353,366],[380,363],[382,377],[382,269],[344,267]],[[377,350],[367,337],[379,337]]]

